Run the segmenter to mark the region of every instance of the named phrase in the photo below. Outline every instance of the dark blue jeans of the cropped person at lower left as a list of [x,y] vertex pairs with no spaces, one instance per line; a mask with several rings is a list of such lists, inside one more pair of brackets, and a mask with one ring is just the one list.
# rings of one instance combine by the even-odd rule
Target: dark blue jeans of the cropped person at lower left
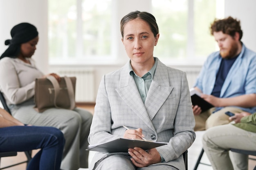
[[0,128],[0,152],[41,150],[31,159],[27,170],[59,170],[65,139],[54,127],[11,126]]

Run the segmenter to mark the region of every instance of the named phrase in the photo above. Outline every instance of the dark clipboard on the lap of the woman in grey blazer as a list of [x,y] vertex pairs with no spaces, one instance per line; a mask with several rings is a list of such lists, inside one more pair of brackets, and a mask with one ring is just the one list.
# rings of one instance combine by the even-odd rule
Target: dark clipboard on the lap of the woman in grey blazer
[[139,147],[144,150],[149,150],[152,148],[156,148],[158,146],[167,145],[166,142],[153,142],[153,141],[145,141],[145,140],[136,140],[136,139],[125,139],[118,138],[112,141],[108,141],[106,143],[101,143],[97,145],[89,145],[88,149],[92,151],[98,152],[128,152],[129,148]]

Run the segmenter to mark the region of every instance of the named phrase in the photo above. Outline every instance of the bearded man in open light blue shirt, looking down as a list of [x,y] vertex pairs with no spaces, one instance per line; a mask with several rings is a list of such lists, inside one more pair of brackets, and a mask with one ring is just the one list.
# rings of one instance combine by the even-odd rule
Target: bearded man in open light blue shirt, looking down
[[202,112],[199,106],[193,106],[195,131],[228,124],[227,111],[256,111],[256,53],[241,42],[240,21],[232,17],[214,20],[211,35],[220,51],[207,58],[195,89],[214,107]]

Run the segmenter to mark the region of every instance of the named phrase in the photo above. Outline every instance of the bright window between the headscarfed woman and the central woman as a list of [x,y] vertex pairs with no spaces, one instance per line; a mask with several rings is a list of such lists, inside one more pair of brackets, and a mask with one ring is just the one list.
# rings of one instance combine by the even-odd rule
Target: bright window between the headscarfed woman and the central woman
[[49,0],[49,59],[111,57],[111,0]]

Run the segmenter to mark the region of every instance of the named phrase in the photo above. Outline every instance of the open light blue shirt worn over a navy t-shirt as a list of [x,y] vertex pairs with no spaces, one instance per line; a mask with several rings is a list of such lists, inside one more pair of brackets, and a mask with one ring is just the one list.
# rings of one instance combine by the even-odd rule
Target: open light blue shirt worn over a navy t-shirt
[[[211,53],[202,66],[194,85],[202,93],[210,95],[213,91],[221,59],[222,57],[219,51]],[[256,93],[256,53],[247,49],[243,44],[240,55],[238,55],[236,61],[230,68],[223,83],[220,97],[228,98],[252,93]],[[220,108],[216,109],[218,110]],[[256,112],[256,107],[241,109],[249,113]]]

